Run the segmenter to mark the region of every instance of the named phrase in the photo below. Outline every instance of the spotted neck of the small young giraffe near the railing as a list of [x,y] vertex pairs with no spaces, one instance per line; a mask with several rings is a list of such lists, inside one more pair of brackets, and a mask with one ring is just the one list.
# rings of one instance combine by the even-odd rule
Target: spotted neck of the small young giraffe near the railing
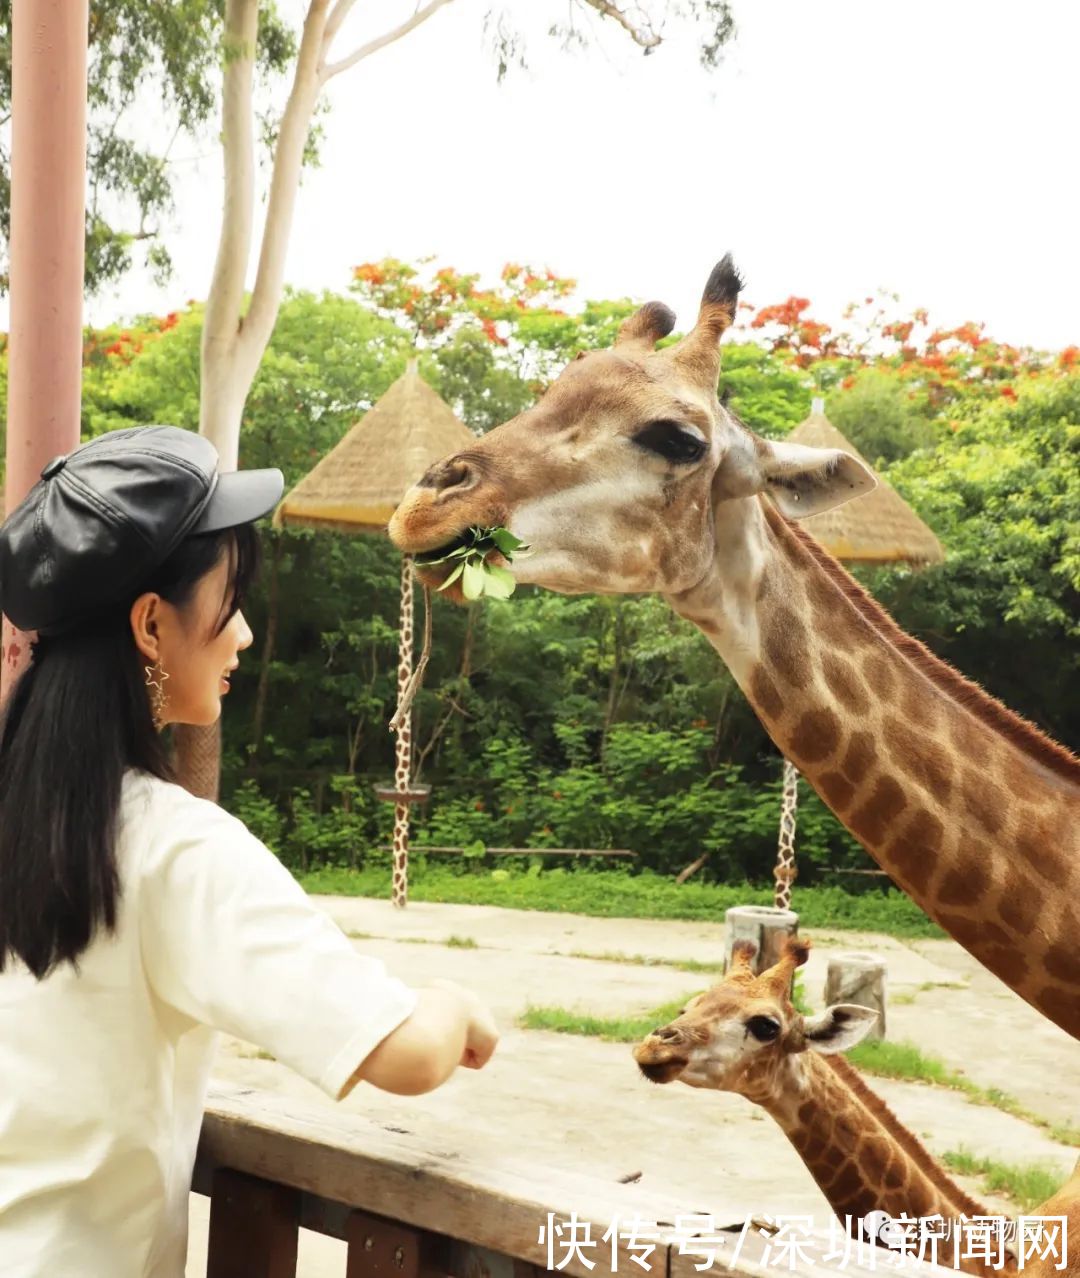
[[[841,1056],[786,1056],[780,1075],[748,1077],[739,1090],[776,1120],[852,1232],[872,1212],[946,1220],[992,1214],[945,1174]],[[988,1272],[979,1263],[961,1268]]]

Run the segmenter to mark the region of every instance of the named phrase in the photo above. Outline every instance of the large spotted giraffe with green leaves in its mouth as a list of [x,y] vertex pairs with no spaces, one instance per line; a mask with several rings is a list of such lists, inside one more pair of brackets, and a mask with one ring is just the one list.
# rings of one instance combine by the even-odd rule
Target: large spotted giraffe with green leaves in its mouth
[[[771,442],[717,399],[741,280],[697,323],[651,302],[611,349],[433,465],[397,507],[408,553],[502,524],[518,581],[662,594],[726,662],[772,740],[950,935],[1080,1036],[1080,760],[965,680],[796,520],[876,483],[838,450]],[[445,567],[422,570],[438,584]],[[460,599],[460,585],[447,592]]]

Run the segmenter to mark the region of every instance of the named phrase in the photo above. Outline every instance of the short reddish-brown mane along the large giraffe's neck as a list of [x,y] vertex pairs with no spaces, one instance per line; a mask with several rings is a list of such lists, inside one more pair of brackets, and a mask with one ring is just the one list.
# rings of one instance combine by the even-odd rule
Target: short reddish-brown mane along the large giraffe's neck
[[838,560],[815,541],[814,537],[796,523],[782,515],[772,502],[764,502],[766,519],[771,524],[781,524],[794,541],[813,558],[837,585],[851,607],[868,621],[879,634],[902,653],[915,668],[936,688],[952,700],[970,711],[978,720],[999,732],[1006,740],[1017,745],[1037,763],[1048,771],[1080,786],[1080,759],[1066,746],[1058,744],[1008,709],[985,689],[965,679],[957,670],[942,661],[914,635],[902,630],[874,597],[847,573]]

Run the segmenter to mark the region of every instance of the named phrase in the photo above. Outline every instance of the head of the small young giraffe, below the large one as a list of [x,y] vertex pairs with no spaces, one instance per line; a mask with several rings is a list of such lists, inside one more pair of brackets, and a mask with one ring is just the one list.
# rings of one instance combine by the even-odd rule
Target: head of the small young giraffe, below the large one
[[789,939],[780,961],[757,976],[754,946],[736,942],[723,980],[691,998],[670,1025],[653,1030],[634,1048],[642,1074],[652,1082],[677,1079],[760,1103],[783,1088],[791,1057],[854,1047],[877,1012],[840,1003],[804,1017],[791,1003],[791,979],[809,953],[808,942]]

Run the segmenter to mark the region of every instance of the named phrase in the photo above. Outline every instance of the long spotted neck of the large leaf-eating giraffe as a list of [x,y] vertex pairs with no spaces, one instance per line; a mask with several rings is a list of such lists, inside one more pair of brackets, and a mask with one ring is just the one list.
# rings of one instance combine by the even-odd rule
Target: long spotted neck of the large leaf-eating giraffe
[[668,602],[893,882],[1080,1038],[1080,763],[906,635],[769,502],[739,506],[718,514],[713,567]]

